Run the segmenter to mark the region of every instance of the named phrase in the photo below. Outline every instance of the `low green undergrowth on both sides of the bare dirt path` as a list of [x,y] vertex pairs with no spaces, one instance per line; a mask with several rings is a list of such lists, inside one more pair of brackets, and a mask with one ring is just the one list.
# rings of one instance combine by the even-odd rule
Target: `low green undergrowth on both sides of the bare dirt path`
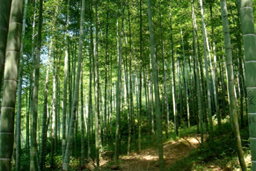
[[[214,118],[214,117],[213,117]],[[238,163],[238,157],[236,152],[236,145],[234,140],[234,133],[231,128],[230,118],[227,116],[222,120],[222,133],[219,133],[217,120],[213,119],[214,123],[214,142],[204,142],[200,144],[196,149],[190,151],[185,156],[178,158],[166,171],[238,171],[240,170],[240,165]],[[174,131],[173,123],[170,123],[171,127],[168,131],[168,138],[166,138],[166,133],[163,130],[163,143],[172,143],[173,141],[178,141],[185,137],[197,136],[197,127],[191,126],[187,128],[186,126],[180,127],[179,135],[176,136]],[[125,132],[125,129],[123,132]],[[204,137],[206,128],[203,127]],[[251,167],[251,155],[249,146],[249,131],[248,127],[240,129],[242,148],[244,150],[245,161],[248,169]],[[199,135],[200,136],[200,135]],[[92,134],[94,137],[94,134]],[[132,136],[131,141],[131,152],[136,154],[138,152],[138,133],[136,132]],[[79,137],[80,138],[80,137]],[[127,155],[127,134],[123,134],[121,138],[121,143],[119,147],[120,157]],[[147,127],[142,127],[142,138],[141,138],[142,150],[147,150],[148,148],[157,149],[157,139],[154,135],[147,134]],[[70,158],[69,171],[86,171],[86,170],[105,170],[109,171],[113,165],[120,166],[122,168],[122,160],[114,162],[113,151],[114,146],[108,146],[103,149],[103,155],[101,159],[106,161],[100,168],[95,168],[95,147],[93,146],[94,139],[92,139],[91,146],[91,160],[86,160],[86,167],[81,166],[80,149],[78,148],[74,153],[74,156]],[[78,141],[77,147],[80,147]],[[24,149],[23,149],[24,150]],[[104,153],[106,152],[106,153]],[[22,151],[21,159],[21,170],[27,170],[29,168],[30,156],[28,151]],[[60,151],[57,151],[54,156],[54,168],[50,168],[50,142],[46,145],[46,171],[61,171],[62,167],[62,156]],[[87,156],[87,149],[85,149],[85,154]],[[102,160],[101,160],[102,161]]]

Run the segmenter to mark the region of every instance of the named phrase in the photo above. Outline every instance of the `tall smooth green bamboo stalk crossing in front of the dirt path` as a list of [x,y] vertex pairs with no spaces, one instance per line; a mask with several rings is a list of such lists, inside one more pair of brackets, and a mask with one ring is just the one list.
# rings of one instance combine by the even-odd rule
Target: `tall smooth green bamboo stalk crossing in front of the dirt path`
[[157,60],[155,55],[155,40],[153,33],[153,23],[151,16],[151,5],[150,0],[147,0],[148,10],[148,23],[150,31],[150,45],[151,45],[151,63],[153,69],[153,80],[154,80],[154,93],[155,93],[155,116],[157,121],[157,143],[158,143],[158,155],[159,155],[159,166],[160,171],[165,170],[163,161],[163,143],[162,143],[162,124],[161,124],[161,112],[160,112],[160,98],[159,98],[159,85],[158,85],[158,73],[157,73]]

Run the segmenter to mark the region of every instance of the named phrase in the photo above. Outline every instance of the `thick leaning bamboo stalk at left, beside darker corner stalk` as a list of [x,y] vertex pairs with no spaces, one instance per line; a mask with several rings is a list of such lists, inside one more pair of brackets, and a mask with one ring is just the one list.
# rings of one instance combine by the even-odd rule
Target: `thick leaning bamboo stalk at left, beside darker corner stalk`
[[[2,16],[7,16],[8,14],[3,14],[3,12],[10,12],[10,4],[13,7],[10,13],[10,24],[8,32],[8,41],[6,48],[6,60],[4,69],[4,86],[3,86],[3,98],[1,104],[1,120],[0,120],[0,170],[10,171],[11,170],[11,158],[14,146],[14,118],[15,118],[15,105],[16,105],[16,87],[17,87],[17,73],[18,73],[18,59],[20,53],[20,37],[21,37],[21,22],[22,22],[22,0],[6,1],[8,4],[0,1],[0,44],[1,52],[2,43],[4,43],[4,48],[6,45],[6,34],[2,29],[7,29],[8,27],[3,27],[8,25],[6,19],[2,19]],[[3,5],[3,6],[2,6]],[[3,38],[2,38],[3,36]],[[0,53],[1,53],[0,52]],[[4,49],[5,52],[5,49]],[[2,55],[2,54],[1,54]],[[0,56],[4,59],[4,56]],[[3,65],[1,66],[3,67]],[[0,79],[2,79],[2,68],[0,68]],[[1,84],[0,84],[1,86]],[[1,90],[1,87],[0,87]]]

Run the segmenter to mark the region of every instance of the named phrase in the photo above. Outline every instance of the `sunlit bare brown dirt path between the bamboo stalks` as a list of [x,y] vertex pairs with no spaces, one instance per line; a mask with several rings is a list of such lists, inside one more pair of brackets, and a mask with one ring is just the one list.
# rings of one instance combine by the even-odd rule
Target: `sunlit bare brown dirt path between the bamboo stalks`
[[[189,151],[197,148],[201,142],[200,135],[184,137],[178,141],[166,142],[163,144],[163,158],[165,167],[169,168],[172,163],[187,155]],[[132,153],[129,156],[120,158],[119,164],[122,171],[158,171],[158,149],[148,148],[140,154]]]

